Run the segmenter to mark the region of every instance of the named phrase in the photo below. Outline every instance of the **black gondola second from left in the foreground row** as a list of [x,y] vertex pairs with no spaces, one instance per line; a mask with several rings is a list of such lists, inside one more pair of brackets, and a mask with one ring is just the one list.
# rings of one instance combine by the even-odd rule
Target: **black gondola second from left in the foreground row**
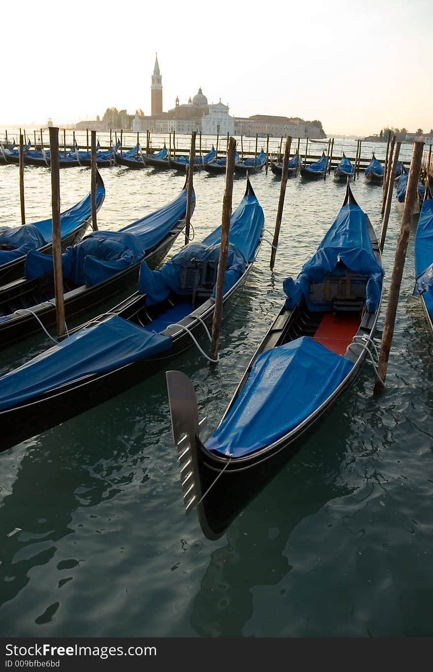
[[[192,205],[195,205],[193,193]],[[185,226],[186,182],[168,205],[118,231],[93,231],[62,254],[66,319],[93,308],[136,282],[140,263],[165,257]],[[0,288],[0,348],[56,323],[53,258],[36,251],[26,258],[26,278]]]

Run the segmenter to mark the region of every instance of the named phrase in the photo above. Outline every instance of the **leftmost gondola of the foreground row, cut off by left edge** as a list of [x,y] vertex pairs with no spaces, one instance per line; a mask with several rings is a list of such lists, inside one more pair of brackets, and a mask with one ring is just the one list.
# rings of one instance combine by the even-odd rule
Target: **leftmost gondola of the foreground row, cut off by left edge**
[[[101,175],[97,173],[96,207],[101,208],[105,198],[105,187]],[[91,219],[91,194],[72,208],[60,214],[60,237],[62,250],[75,245],[85,235]],[[26,255],[32,250],[50,254],[52,244],[51,218],[24,224],[23,226],[0,227],[0,290],[6,283],[24,276]]]

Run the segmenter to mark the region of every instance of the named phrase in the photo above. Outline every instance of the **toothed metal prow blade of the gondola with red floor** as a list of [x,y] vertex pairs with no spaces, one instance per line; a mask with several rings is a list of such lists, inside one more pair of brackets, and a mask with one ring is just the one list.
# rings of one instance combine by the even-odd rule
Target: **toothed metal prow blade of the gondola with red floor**
[[197,461],[197,440],[206,418],[199,422],[197,397],[191,380],[180,371],[166,372],[173,441],[179,453],[179,470],[185,513],[201,501],[201,482]]

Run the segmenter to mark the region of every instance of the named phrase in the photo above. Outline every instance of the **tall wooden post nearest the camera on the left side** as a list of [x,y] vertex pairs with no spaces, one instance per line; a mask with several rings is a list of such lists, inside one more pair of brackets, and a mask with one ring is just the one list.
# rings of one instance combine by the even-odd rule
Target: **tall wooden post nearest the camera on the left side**
[[62,244],[60,233],[60,170],[58,162],[58,128],[50,126],[51,208],[52,208],[52,257],[54,261],[54,294],[56,298],[57,337],[66,336],[64,321],[64,296],[62,272]]

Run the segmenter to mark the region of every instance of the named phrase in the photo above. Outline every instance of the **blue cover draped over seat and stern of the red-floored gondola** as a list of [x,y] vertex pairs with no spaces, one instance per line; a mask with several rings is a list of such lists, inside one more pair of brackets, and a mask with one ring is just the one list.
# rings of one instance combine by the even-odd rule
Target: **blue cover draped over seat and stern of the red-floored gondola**
[[316,254],[303,265],[296,282],[292,278],[283,282],[287,307],[294,308],[304,296],[309,310],[331,310],[329,302],[309,300],[310,282],[324,282],[328,275],[345,275],[348,269],[352,273],[368,276],[366,306],[369,312],[376,312],[385,271],[375,259],[367,216],[357,204],[342,206]]

